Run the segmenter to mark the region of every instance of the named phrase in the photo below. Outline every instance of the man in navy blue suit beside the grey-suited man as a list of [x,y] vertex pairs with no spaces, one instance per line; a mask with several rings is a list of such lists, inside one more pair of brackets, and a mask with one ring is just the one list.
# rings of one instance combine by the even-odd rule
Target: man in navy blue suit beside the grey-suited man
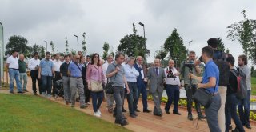
[[[150,113],[151,111],[147,108],[147,91],[146,91],[146,70],[142,67],[143,58],[142,56],[138,56],[136,58],[136,63],[134,64],[135,69],[138,71],[139,76],[137,78],[137,87],[138,87],[138,97],[142,94],[142,104],[143,104],[143,112]],[[138,102],[137,102],[138,105]],[[138,107],[134,108],[137,112]]]

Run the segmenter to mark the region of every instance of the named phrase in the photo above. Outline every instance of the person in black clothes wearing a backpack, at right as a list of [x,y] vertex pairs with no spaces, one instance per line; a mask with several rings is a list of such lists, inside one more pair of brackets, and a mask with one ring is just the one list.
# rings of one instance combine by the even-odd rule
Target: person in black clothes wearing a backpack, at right
[[229,78],[229,85],[227,85],[227,90],[226,90],[226,104],[225,104],[226,130],[225,131],[226,132],[229,131],[231,118],[233,118],[236,126],[235,130],[233,131],[243,132],[245,130],[243,129],[242,122],[238,118],[238,114],[237,114],[238,98],[236,97],[236,92],[238,89],[238,81],[237,81],[237,76],[234,73],[238,73],[238,71],[234,69],[234,57],[227,58],[226,62],[228,62],[230,65],[230,78]]

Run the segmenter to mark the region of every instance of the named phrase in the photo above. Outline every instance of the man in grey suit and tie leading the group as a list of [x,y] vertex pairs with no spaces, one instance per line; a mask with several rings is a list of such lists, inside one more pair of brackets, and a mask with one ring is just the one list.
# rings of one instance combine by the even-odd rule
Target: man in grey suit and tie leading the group
[[159,59],[154,60],[154,67],[149,69],[147,78],[149,79],[150,93],[152,94],[154,100],[154,115],[162,116],[160,105],[166,75],[164,70],[160,67]]

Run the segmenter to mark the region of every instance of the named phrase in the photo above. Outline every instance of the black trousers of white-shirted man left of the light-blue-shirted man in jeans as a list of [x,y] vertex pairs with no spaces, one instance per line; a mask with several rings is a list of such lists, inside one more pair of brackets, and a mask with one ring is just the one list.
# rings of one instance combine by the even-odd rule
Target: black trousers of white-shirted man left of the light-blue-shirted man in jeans
[[42,83],[41,83],[41,80],[38,78],[38,70],[31,70],[30,76],[32,79],[33,92],[37,93],[37,80],[38,80],[39,94],[42,94]]

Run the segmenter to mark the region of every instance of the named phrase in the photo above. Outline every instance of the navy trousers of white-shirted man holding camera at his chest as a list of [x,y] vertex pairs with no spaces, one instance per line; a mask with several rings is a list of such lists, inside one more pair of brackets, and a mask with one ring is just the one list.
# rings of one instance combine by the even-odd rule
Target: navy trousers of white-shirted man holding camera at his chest
[[170,110],[170,106],[174,101],[173,112],[178,112],[178,100],[179,100],[179,86],[166,85],[166,94],[168,96],[168,101],[166,102],[165,110]]

